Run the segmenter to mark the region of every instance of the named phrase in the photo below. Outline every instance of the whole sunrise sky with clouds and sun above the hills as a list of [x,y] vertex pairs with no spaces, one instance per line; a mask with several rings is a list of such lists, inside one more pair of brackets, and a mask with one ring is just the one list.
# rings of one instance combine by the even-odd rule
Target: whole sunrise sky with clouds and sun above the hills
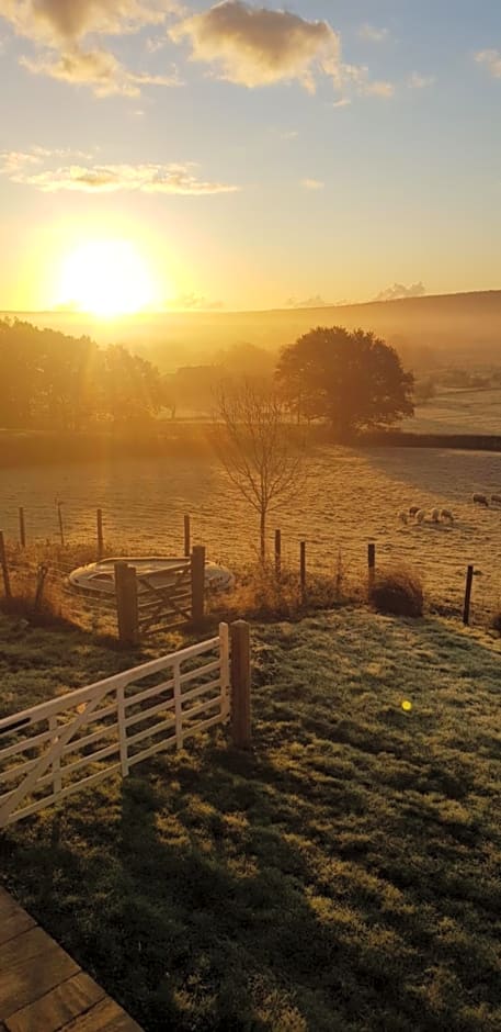
[[0,310],[501,288],[499,0],[0,0]]

